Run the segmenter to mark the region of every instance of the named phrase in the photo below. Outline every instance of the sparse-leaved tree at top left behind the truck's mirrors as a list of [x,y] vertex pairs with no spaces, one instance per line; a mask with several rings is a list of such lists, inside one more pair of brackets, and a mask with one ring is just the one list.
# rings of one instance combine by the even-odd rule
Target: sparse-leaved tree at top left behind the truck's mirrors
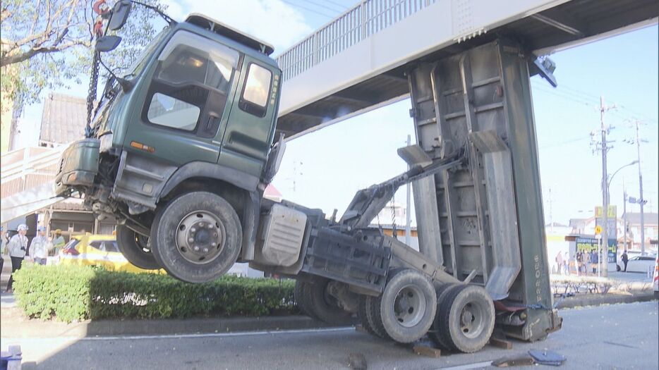
[[[114,1],[108,0],[112,6]],[[90,75],[92,32],[96,13],[91,0],[4,0],[0,6],[1,93],[22,109],[40,100],[44,89],[70,82],[83,83]],[[143,0],[160,6],[159,0]],[[162,6],[161,6],[162,8]],[[133,6],[119,30],[123,42],[107,64],[130,66],[155,35],[152,11]]]

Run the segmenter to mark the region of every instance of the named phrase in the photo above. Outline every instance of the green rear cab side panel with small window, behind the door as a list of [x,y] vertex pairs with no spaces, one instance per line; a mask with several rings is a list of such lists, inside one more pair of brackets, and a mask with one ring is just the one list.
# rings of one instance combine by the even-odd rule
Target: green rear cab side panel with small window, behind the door
[[260,176],[274,135],[279,72],[245,56],[219,164]]

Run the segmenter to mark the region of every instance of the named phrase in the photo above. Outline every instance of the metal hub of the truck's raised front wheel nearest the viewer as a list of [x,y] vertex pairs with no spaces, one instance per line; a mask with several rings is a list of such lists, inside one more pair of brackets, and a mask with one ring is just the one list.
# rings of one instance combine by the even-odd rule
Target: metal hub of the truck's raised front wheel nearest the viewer
[[224,248],[224,225],[207,211],[192,212],[179,223],[176,244],[183,258],[195,264],[207,264]]

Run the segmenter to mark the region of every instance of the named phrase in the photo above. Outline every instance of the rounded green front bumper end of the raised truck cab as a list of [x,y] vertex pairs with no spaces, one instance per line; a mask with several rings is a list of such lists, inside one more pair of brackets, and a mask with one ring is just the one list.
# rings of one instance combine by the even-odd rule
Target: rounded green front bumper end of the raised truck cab
[[91,187],[98,173],[99,140],[83,139],[64,150],[55,176],[55,195],[67,197],[73,190]]

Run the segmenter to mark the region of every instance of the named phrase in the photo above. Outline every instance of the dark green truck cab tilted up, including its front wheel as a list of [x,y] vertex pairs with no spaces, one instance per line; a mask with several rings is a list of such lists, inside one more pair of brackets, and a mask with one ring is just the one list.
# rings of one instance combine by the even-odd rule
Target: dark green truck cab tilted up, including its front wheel
[[110,78],[92,135],[64,152],[56,195],[117,221],[121,252],[191,282],[250,260],[273,145],[281,70],[272,47],[192,14]]

